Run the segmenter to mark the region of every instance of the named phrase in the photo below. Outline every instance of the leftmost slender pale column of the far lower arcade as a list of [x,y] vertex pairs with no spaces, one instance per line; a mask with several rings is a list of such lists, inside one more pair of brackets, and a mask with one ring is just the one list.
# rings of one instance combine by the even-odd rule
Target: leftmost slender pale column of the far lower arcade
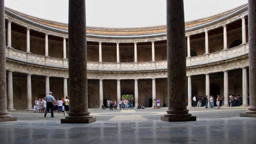
[[16,110],[13,108],[13,85],[12,85],[12,71],[8,72],[8,109],[9,111]]

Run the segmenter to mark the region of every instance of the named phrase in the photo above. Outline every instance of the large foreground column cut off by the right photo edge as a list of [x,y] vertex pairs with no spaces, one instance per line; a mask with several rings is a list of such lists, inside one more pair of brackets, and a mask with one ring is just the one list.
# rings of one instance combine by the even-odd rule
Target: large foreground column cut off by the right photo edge
[[240,116],[256,117],[256,1],[248,0],[250,107]]

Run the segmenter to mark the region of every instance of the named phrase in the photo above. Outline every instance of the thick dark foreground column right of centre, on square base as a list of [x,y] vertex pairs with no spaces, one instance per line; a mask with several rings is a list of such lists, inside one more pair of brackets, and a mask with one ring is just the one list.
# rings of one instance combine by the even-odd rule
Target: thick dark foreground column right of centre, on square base
[[168,110],[162,121],[195,121],[187,110],[186,36],[184,5],[167,0],[167,76]]

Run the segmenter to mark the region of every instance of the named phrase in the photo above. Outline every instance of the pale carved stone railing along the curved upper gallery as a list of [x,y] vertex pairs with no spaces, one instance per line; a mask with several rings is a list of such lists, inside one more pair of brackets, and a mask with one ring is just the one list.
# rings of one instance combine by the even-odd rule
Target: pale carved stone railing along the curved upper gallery
[[[231,59],[248,54],[248,44],[241,44],[240,46],[222,50],[219,52],[205,54],[195,57],[186,58],[186,66],[205,65],[213,62],[218,62],[226,59]],[[65,68],[68,69],[68,60],[46,57],[32,53],[15,50],[6,47],[6,57],[18,61],[27,62],[35,65],[42,65],[48,67]],[[88,70],[96,71],[142,71],[142,70],[162,70],[167,69],[167,61],[150,61],[150,62],[88,62]]]

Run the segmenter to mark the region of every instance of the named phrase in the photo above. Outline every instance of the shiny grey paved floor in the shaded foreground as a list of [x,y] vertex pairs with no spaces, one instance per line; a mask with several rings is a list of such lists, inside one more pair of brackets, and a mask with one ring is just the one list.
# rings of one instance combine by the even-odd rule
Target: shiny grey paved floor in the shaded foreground
[[[126,119],[126,116],[124,116]],[[18,120],[0,123],[1,144],[253,144],[255,118],[198,118],[194,122]]]

